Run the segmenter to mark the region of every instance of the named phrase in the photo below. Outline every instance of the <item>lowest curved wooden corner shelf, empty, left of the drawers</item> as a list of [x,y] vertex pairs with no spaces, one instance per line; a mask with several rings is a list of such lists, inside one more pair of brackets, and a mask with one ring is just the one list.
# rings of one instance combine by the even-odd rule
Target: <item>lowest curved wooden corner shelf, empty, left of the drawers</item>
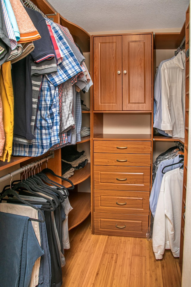
[[80,224],[91,211],[91,193],[70,191],[70,205],[73,207],[68,214],[68,230]]

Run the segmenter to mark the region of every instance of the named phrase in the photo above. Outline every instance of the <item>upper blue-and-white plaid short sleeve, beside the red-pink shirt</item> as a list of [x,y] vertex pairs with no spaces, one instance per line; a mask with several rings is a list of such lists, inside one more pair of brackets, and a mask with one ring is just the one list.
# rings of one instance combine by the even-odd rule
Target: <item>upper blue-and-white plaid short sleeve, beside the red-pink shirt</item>
[[78,60],[74,56],[68,43],[64,39],[64,36],[58,25],[50,19],[46,20],[50,24],[56,41],[59,45],[59,48],[61,49],[64,56],[62,62],[57,65],[58,71],[52,74],[47,74],[47,78],[50,80],[50,82],[54,86],[58,86],[59,84],[64,83],[79,72],[82,72],[82,68]]

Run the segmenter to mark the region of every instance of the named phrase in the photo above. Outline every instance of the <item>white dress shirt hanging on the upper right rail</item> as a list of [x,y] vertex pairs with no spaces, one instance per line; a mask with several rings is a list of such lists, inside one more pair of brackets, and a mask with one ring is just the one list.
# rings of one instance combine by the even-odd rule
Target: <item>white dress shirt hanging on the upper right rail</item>
[[185,115],[185,53],[161,67],[161,129],[169,136],[184,138]]

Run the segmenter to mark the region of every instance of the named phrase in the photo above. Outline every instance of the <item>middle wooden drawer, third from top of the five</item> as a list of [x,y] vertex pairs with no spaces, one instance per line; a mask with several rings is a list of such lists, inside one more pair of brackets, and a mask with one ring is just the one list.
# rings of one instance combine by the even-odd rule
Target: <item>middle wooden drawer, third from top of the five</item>
[[150,191],[150,167],[95,165],[94,189]]

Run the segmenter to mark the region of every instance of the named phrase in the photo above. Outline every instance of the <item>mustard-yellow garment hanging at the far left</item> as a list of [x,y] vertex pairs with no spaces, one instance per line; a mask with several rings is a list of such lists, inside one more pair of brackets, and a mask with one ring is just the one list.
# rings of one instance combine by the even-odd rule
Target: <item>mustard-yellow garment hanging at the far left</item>
[[13,84],[11,78],[11,62],[4,62],[1,65],[0,92],[3,106],[3,124],[5,132],[5,144],[1,161],[7,162],[11,159],[13,145],[13,126],[14,126],[14,98]]

